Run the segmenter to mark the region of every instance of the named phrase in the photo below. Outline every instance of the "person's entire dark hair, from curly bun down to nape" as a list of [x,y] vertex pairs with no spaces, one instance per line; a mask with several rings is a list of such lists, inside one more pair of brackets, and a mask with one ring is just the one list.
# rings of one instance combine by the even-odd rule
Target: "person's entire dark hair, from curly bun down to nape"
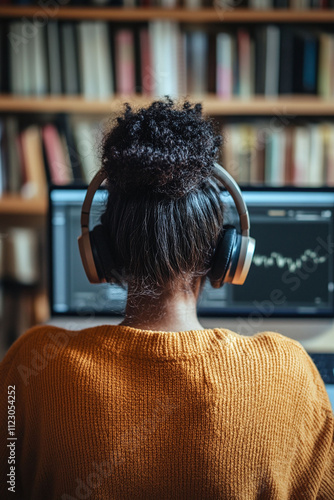
[[208,272],[223,223],[212,178],[221,143],[199,103],[125,104],[102,144],[109,196],[101,223],[126,282],[152,291]]

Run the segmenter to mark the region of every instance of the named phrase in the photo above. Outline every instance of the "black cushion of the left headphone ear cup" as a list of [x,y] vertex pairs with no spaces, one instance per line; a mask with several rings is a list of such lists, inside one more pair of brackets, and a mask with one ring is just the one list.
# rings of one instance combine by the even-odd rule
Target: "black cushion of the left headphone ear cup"
[[110,243],[107,239],[106,230],[102,224],[95,226],[89,232],[92,254],[101,281],[107,283],[120,282],[121,276],[116,270]]

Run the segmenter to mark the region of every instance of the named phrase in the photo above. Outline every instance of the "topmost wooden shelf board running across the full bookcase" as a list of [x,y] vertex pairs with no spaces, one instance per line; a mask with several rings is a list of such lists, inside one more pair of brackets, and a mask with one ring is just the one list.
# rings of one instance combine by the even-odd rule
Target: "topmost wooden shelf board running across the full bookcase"
[[0,18],[36,17],[37,22],[48,19],[103,19],[105,21],[131,21],[143,22],[152,19],[169,19],[181,22],[200,23],[331,23],[334,21],[334,10],[330,9],[276,9],[276,10],[251,10],[251,9],[224,9],[223,7],[205,9],[184,8],[128,8],[128,7],[59,7],[48,8],[37,6],[0,6]]

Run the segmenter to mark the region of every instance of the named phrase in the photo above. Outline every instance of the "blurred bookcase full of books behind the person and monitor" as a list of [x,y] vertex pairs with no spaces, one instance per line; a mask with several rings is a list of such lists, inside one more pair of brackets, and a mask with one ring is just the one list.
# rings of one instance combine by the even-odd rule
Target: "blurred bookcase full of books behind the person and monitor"
[[47,321],[48,186],[123,109],[187,96],[241,185],[334,186],[334,0],[0,0],[0,341]]

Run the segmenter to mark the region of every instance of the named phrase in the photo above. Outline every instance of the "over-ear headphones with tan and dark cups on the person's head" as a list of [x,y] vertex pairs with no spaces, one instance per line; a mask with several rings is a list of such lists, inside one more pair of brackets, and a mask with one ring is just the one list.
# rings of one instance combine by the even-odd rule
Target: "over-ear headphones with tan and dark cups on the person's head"
[[[248,275],[255,250],[255,240],[249,235],[248,210],[238,184],[218,163],[214,164],[213,175],[233,198],[239,214],[241,233],[231,225],[222,227],[208,278],[214,288],[220,288],[224,283],[242,285]],[[121,273],[115,267],[112,247],[104,226],[99,224],[89,231],[89,213],[93,197],[106,177],[104,169],[97,172],[88,186],[81,210],[81,236],[78,238],[78,244],[82,264],[90,283],[121,281]]]

